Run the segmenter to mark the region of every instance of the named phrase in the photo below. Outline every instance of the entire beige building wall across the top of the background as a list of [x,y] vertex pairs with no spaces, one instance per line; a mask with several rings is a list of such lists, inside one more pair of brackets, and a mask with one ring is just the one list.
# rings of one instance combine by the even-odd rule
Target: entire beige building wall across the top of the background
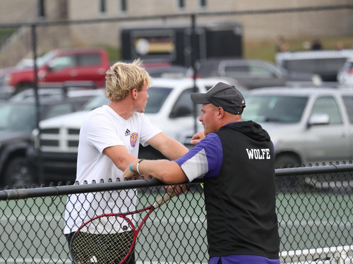
[[[129,18],[168,14],[208,13],[225,11],[264,10],[351,4],[352,0],[184,0],[185,7],[178,7],[178,0],[126,0],[127,10],[122,12],[121,0],[106,0],[106,12],[101,13],[100,0],[46,0],[46,20],[80,20],[97,18]],[[37,20],[37,0],[0,0],[0,23]],[[296,12],[278,14],[244,14],[227,16],[197,16],[201,22],[240,22],[243,25],[245,44],[274,41],[278,35],[285,38],[317,36],[353,36],[353,15],[350,10]],[[38,54],[53,48],[74,46],[120,46],[120,30],[126,26],[175,26],[190,23],[190,18],[147,19],[129,22],[102,22],[66,26],[39,27]],[[22,34],[22,35],[21,35]],[[22,42],[15,44],[15,42]],[[1,42],[1,41],[0,41]],[[29,30],[18,31],[1,45],[0,64],[14,65],[23,56],[31,57]],[[2,44],[2,43],[0,43]],[[20,50],[20,52],[19,52]]]

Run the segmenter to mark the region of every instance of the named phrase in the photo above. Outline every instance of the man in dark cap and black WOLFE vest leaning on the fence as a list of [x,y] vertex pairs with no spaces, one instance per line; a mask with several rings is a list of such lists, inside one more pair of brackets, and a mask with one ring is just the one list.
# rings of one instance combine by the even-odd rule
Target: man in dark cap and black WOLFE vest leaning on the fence
[[[136,160],[132,168],[168,184],[203,176],[210,264],[279,264],[270,136],[241,121],[245,100],[234,86],[217,83],[191,100],[202,104],[197,145],[177,160]],[[124,176],[133,176],[129,168]]]

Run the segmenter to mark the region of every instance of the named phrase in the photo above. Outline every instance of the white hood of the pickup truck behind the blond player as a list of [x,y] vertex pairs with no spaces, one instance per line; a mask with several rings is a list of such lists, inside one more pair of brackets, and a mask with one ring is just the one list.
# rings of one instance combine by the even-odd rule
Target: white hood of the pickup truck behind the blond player
[[89,111],[79,111],[71,114],[60,115],[54,118],[42,120],[40,122],[41,129],[45,128],[61,128],[70,127],[80,129],[85,116]]

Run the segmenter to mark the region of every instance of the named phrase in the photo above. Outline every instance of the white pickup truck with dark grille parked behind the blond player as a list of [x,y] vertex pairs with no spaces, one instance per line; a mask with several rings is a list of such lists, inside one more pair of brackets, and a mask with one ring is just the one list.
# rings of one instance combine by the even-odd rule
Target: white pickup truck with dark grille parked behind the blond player
[[[236,85],[234,79],[205,78],[196,80],[196,90],[206,92],[218,82]],[[194,105],[190,99],[193,86],[194,81],[190,78],[153,79],[153,84],[148,90],[149,98],[145,115],[169,137],[175,138],[178,131],[195,124]],[[75,178],[82,121],[86,114],[103,104],[108,104],[108,99],[102,92],[102,95],[89,101],[82,111],[41,121],[40,136],[37,130],[33,131],[34,145],[29,147],[27,154],[31,163],[35,164],[40,148],[43,171],[48,180],[63,181]],[[199,110],[197,110],[198,115]],[[145,148],[140,146],[139,156],[163,158],[160,152],[149,146]]]

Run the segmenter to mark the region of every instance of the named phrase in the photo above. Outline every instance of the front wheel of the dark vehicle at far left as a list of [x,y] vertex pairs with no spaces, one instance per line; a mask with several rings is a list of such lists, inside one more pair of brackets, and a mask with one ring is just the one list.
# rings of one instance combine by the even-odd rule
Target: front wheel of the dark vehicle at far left
[[4,186],[8,185],[10,189],[14,185],[17,185],[18,188],[26,185],[30,188],[32,184],[35,184],[33,175],[30,173],[28,163],[24,157],[14,157],[7,162],[3,183]]

